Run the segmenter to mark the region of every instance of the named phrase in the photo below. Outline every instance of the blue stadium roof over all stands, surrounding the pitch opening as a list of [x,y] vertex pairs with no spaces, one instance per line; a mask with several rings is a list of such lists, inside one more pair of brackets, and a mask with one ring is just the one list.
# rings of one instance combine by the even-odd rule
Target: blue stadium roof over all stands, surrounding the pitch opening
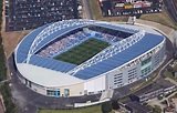
[[[74,64],[56,61],[50,58],[39,56],[39,55],[35,55],[34,53],[35,51],[44,47],[46,43],[50,43],[52,40],[76,28],[82,28],[87,24],[95,24],[97,27],[110,28],[110,29],[119,30],[119,31],[129,32],[129,33],[137,33],[138,30],[145,29],[144,27],[139,27],[139,25],[138,27],[133,25],[129,29],[128,24],[127,25],[115,24],[115,23],[100,22],[100,21],[92,21],[92,20],[91,21],[90,20],[79,20],[79,21],[69,20],[69,21],[60,21],[56,23],[46,24],[34,30],[32,33],[30,33],[22,40],[22,42],[17,48],[17,63],[22,63],[22,62],[27,63],[28,54],[31,53],[30,54],[31,59],[29,63],[33,65],[42,66],[45,69],[59,71],[59,72],[67,72],[76,68],[76,65]],[[74,74],[74,76],[76,76],[77,79],[87,80],[127,63],[128,61],[155,48],[157,44],[159,44],[164,40],[163,35],[154,32],[155,31],[152,32],[150,30],[147,30],[147,32],[145,32],[145,35],[133,45],[126,48],[125,50],[101,62],[93,64],[92,66],[86,66],[83,70],[79,70]]]

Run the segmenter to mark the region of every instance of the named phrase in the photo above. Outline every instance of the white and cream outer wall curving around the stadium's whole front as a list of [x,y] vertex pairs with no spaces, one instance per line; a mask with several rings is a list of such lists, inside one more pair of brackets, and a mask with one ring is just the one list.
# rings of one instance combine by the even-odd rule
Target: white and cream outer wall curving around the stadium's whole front
[[[107,73],[86,80],[84,83],[77,83],[69,86],[45,88],[32,82],[30,83],[30,81],[23,78],[22,75],[19,75],[19,78],[21,82],[25,84],[28,88],[43,95],[49,95],[46,94],[48,90],[60,91],[60,95],[56,95],[56,96],[81,96],[84,94],[97,94],[111,89],[117,89],[117,88],[124,86],[144,76],[149,75],[157,68],[159,68],[160,64],[164,62],[166,58],[165,50],[166,48],[165,48],[165,40],[164,40],[162,43],[159,43],[157,47],[149,50],[145,54],[129,61],[129,63],[132,64],[131,66],[127,66],[127,64],[125,64]],[[152,54],[147,55],[149,53]],[[150,66],[150,71],[143,75],[142,62],[144,62],[149,58],[150,58],[150,61],[149,61],[150,63],[148,63],[148,66]],[[140,60],[140,62],[138,60]],[[69,90],[70,94],[65,94],[65,90]],[[49,96],[52,96],[52,95],[49,95]]]

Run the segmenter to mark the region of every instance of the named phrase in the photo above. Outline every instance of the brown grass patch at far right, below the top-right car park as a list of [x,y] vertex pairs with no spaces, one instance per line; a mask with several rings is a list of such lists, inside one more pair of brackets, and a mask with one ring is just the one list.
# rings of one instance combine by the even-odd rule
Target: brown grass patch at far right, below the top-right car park
[[169,18],[169,16],[167,14],[164,8],[162,13],[142,14],[140,19],[154,21],[177,30],[177,24]]

